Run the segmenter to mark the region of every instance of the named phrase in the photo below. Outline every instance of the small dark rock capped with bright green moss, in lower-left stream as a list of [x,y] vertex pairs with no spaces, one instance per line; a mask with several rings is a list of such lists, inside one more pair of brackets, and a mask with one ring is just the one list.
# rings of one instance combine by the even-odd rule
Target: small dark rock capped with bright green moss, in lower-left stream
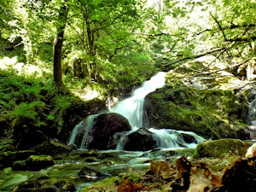
[[55,165],[54,160],[49,155],[31,155],[26,160],[27,170],[39,171],[49,166]]

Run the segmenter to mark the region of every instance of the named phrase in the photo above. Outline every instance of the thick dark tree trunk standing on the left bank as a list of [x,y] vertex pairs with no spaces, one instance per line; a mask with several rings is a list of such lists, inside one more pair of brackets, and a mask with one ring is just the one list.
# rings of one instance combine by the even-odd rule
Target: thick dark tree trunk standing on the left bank
[[65,26],[66,26],[66,21],[67,21],[67,5],[63,5],[61,11],[60,11],[60,22],[61,25],[57,29],[57,39],[55,42],[55,47],[54,47],[54,80],[55,84],[57,86],[62,85],[62,69],[61,69],[61,57],[62,57],[62,46],[63,46],[63,41],[64,41],[64,31],[65,31]]

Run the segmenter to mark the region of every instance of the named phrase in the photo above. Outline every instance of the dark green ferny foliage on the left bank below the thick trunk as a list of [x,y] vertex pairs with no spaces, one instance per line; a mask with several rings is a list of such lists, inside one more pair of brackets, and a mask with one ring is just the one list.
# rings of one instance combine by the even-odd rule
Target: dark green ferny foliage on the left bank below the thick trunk
[[72,97],[61,96],[47,80],[24,77],[13,69],[1,70],[0,77],[1,132],[7,137],[17,126],[48,129],[71,105]]

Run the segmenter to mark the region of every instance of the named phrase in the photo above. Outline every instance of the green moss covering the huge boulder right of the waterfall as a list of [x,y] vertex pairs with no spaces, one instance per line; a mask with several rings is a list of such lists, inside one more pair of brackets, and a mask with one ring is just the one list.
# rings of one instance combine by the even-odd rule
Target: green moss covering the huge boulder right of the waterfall
[[[236,114],[247,111],[236,104],[234,90],[198,89],[189,81],[189,77],[185,82],[185,74],[175,72],[167,74],[165,88],[146,96],[144,105],[147,113],[151,114],[148,117],[150,126],[194,131],[212,139],[247,139],[246,134],[237,134],[234,129],[236,122],[246,119],[240,120]],[[211,81],[214,83],[214,79]],[[246,131],[245,126],[241,129]]]

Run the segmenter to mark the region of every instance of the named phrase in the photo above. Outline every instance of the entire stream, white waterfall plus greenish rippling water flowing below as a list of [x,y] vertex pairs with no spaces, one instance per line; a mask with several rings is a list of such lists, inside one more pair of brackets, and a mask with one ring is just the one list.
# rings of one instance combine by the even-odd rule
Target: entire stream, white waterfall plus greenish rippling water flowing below
[[[148,93],[165,86],[165,77],[166,73],[157,73],[154,77],[144,82],[140,88],[134,90],[131,97],[119,102],[113,108],[109,108],[109,112],[122,114],[129,120],[132,128],[124,136],[137,131],[142,126],[148,125],[147,113],[143,110],[144,97]],[[60,179],[72,181],[75,183],[77,191],[79,191],[85,185],[93,182],[88,177],[79,177],[78,174],[84,166],[89,166],[106,175],[118,175],[129,168],[148,170],[149,160],[173,160],[174,162],[177,156],[192,156],[195,153],[196,145],[205,140],[194,132],[148,127],[148,131],[152,132],[156,140],[157,148],[144,152],[125,151],[123,150],[122,138],[120,138],[115,150],[95,151],[90,154],[91,151],[86,148],[86,143],[91,139],[88,137],[88,131],[90,131],[93,119],[97,115],[90,115],[74,127],[68,145],[74,144],[77,135],[81,132],[83,132],[84,138],[78,146],[78,150],[74,150],[69,154],[67,159],[55,160],[55,166],[50,166],[38,172],[15,172],[12,171],[11,167],[5,168],[0,171],[0,191],[13,191],[17,184],[40,177],[50,177],[51,180],[56,181]],[[195,143],[186,143],[183,135],[194,137]],[[76,158],[78,156],[84,158]]]

